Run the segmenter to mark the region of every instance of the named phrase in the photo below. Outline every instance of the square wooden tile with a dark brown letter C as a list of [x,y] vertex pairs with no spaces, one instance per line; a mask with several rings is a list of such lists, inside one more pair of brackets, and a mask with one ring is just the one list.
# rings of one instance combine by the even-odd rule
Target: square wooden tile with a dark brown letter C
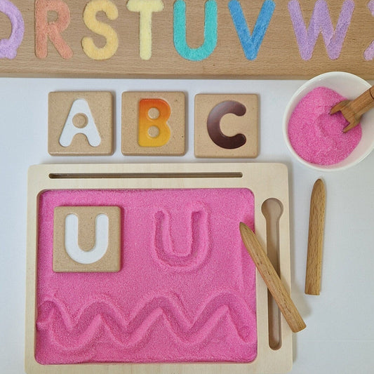
[[195,156],[258,156],[258,96],[199,94],[195,97]]

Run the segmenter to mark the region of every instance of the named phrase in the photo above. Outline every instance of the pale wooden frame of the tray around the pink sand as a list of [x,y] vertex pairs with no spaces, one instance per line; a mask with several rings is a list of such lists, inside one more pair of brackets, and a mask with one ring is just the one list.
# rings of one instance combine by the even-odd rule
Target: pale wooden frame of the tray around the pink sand
[[[144,374],[159,372],[163,374],[213,374],[218,372],[239,374],[279,373],[290,370],[293,362],[292,332],[282,316],[279,320],[279,344],[274,345],[270,341],[272,340],[270,336],[272,332],[269,332],[268,292],[265,283],[258,273],[254,273],[257,315],[257,356],[250,363],[74,363],[42,365],[35,359],[37,344],[36,319],[38,318],[38,314],[41,313],[39,305],[36,305],[36,293],[39,292],[38,288],[43,288],[44,286],[43,284],[39,284],[38,288],[36,288],[38,284],[38,272],[41,271],[37,265],[39,263],[38,251],[41,248],[40,235],[43,235],[43,232],[39,232],[38,222],[40,223],[42,219],[39,215],[44,214],[41,213],[43,210],[39,211],[39,197],[44,192],[68,193],[69,190],[79,190],[81,191],[79,193],[82,194],[84,191],[88,191],[87,193],[89,193],[98,190],[104,190],[104,192],[122,190],[133,190],[135,192],[140,190],[141,193],[144,193],[150,190],[166,190],[166,193],[169,191],[172,193],[175,190],[192,189],[193,191],[205,191],[204,193],[206,193],[208,189],[223,189],[224,191],[227,191],[227,189],[248,191],[250,189],[254,195],[255,232],[263,248],[267,248],[268,253],[271,243],[267,241],[272,241],[272,236],[268,232],[269,227],[274,227],[274,224],[278,225],[278,262],[281,281],[287,290],[290,291],[288,172],[286,166],[279,163],[40,165],[32,166],[29,169],[28,183],[25,352],[25,366],[28,374]],[[282,211],[279,220],[278,218],[276,218],[275,222],[274,220],[267,220],[269,208],[266,206],[265,201],[280,202]],[[77,201],[73,205],[79,206],[82,204]],[[93,205],[96,205],[96,201]],[[100,201],[97,202],[97,205],[100,206]],[[180,211],[184,212],[185,210],[182,208]],[[278,213],[276,214],[279,215]],[[210,223],[210,225],[214,224],[215,222]],[[233,222],[232,225],[236,227],[236,222]],[[239,235],[239,222],[237,222],[237,230],[237,234]],[[111,235],[113,236],[113,234]],[[227,236],[230,235],[232,233],[227,232]],[[240,245],[241,243],[239,243]],[[248,255],[244,247],[242,249],[244,255]],[[123,260],[123,267],[126,267],[127,259],[128,257]],[[108,271],[115,272],[116,269],[109,269]],[[225,269],[222,269],[222,274],[224,272]],[[58,274],[61,274],[58,276],[64,276],[63,273]],[[220,277],[222,274],[215,274],[215,276]],[[74,291],[69,294],[74,295]],[[139,295],[139,297],[141,296]],[[277,318],[279,317],[275,319]],[[273,346],[274,349],[270,346]]]

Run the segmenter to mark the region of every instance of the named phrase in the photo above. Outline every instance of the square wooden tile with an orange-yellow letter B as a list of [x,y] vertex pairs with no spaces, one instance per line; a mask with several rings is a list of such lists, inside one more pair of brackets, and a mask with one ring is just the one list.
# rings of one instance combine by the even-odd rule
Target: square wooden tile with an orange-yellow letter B
[[122,153],[154,156],[185,154],[185,94],[122,94]]

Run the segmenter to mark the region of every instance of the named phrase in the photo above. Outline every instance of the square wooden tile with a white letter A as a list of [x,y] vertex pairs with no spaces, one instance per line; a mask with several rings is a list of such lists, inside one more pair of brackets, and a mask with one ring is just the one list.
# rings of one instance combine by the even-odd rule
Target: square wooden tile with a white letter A
[[49,93],[48,152],[53,156],[113,154],[112,93]]

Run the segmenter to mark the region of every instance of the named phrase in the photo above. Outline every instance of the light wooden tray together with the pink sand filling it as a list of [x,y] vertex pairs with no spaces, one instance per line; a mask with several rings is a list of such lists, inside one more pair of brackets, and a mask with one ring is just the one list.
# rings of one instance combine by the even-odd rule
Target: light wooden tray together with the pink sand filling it
[[[267,248],[267,227],[279,225],[280,276],[290,290],[286,166],[40,165],[29,169],[28,188],[27,374],[290,370],[291,330],[279,319],[272,345],[267,287],[239,234],[242,220]],[[282,207],[271,225],[267,201]],[[53,232],[81,246],[56,211],[80,215],[82,232],[77,207],[92,225],[108,206],[120,210],[119,272],[53,272]]]

